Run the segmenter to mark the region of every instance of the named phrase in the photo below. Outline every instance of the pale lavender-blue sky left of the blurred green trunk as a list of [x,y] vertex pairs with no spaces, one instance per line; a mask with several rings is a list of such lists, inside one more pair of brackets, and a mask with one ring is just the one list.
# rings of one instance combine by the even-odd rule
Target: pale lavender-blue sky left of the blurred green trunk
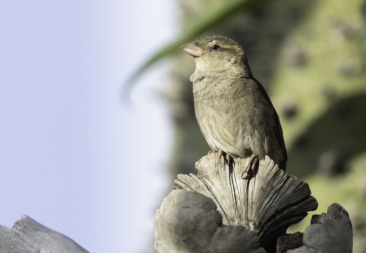
[[152,251],[170,182],[169,110],[156,65],[176,36],[172,1],[0,0],[0,224],[26,214],[90,252]]

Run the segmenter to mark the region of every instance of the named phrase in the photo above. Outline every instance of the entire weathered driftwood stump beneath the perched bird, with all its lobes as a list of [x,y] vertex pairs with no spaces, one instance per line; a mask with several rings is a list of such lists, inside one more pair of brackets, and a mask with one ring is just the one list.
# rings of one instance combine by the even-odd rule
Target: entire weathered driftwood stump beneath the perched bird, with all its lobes
[[[243,180],[245,163],[246,159],[235,158],[228,165],[210,154],[196,162],[197,176],[178,175],[177,186],[156,211],[155,251],[276,252],[277,238],[315,210],[317,201],[305,182],[285,174],[268,156],[259,161],[256,174]],[[313,216],[303,238],[298,233],[295,239],[299,248],[288,253],[352,252],[346,210],[333,204],[327,214]],[[343,251],[329,248],[339,243]]]

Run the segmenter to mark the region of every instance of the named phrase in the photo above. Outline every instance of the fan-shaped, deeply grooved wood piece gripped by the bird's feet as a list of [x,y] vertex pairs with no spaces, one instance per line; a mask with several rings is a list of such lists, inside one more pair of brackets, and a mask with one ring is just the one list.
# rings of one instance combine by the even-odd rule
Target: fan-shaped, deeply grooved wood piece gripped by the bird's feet
[[196,162],[198,175],[178,175],[179,189],[202,193],[214,201],[225,225],[243,225],[254,231],[260,245],[275,252],[277,238],[302,220],[318,203],[307,183],[288,176],[266,156],[254,173],[242,179],[247,159],[228,165],[217,154]]

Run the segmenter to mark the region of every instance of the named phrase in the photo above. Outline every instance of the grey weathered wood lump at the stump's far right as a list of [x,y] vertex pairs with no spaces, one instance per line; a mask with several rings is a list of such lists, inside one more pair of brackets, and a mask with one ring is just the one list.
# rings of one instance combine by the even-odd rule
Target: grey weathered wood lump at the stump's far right
[[326,213],[313,215],[302,238],[303,246],[287,253],[351,253],[353,232],[346,209],[334,203]]

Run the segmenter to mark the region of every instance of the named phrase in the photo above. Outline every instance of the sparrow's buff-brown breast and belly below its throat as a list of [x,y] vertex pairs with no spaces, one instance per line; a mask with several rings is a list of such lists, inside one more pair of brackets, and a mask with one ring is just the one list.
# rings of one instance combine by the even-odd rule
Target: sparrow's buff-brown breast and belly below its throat
[[197,121],[212,149],[240,157],[247,150],[261,157],[268,152],[266,139],[272,127],[264,119],[270,110],[250,85],[217,78],[193,83]]

